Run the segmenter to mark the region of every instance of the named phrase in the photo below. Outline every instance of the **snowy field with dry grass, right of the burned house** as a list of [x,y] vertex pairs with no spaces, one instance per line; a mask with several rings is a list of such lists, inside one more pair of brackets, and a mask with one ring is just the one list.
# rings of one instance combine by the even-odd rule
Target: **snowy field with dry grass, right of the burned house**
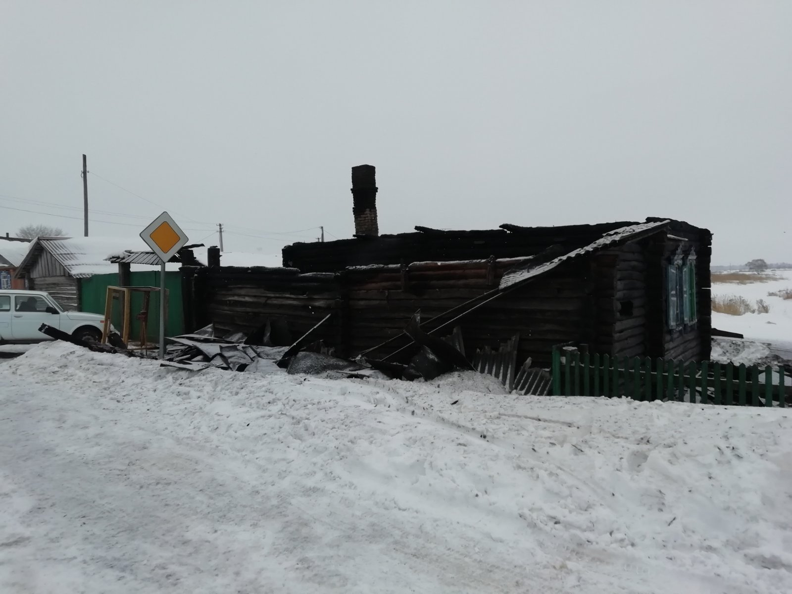
[[781,299],[767,293],[792,288],[792,270],[777,270],[767,274],[776,276],[775,280],[764,283],[718,283],[718,275],[712,284],[712,296],[742,295],[750,303],[756,304],[763,299],[770,307],[768,314],[729,315],[712,313],[714,328],[737,332],[748,340],[769,343],[779,349],[779,354],[789,352],[792,358],[792,299]]

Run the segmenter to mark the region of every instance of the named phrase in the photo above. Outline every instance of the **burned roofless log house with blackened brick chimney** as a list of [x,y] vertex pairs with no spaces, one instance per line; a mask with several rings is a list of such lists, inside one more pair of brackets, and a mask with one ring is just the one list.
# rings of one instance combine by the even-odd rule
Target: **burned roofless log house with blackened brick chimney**
[[[710,355],[709,230],[650,218],[562,227],[380,235],[375,169],[352,168],[354,238],[295,243],[284,268],[189,272],[193,326],[285,320],[317,329],[343,356],[409,356],[403,334],[461,329],[466,352],[516,337],[518,356],[549,364],[555,345],[611,356]],[[187,308],[185,307],[185,310]]]

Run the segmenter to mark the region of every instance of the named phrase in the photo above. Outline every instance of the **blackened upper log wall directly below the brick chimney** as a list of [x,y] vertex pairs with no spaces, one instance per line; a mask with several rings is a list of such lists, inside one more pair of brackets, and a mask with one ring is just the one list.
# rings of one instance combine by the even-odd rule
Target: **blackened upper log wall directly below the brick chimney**
[[516,227],[475,231],[440,231],[295,243],[284,247],[284,266],[302,272],[335,272],[348,266],[397,265],[402,262],[485,260],[490,256],[533,256],[549,246],[586,246],[607,231],[629,222],[568,227]]

